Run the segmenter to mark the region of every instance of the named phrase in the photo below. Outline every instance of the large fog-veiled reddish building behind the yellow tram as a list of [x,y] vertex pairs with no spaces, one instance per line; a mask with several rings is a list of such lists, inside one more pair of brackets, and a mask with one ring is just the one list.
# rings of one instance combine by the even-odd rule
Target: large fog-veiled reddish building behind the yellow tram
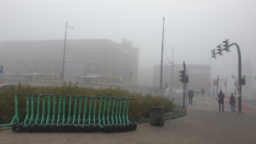
[[[4,78],[21,74],[61,75],[64,40],[0,42],[0,65]],[[128,84],[138,82],[139,50],[132,42],[108,39],[66,40],[64,75],[121,76]]]

